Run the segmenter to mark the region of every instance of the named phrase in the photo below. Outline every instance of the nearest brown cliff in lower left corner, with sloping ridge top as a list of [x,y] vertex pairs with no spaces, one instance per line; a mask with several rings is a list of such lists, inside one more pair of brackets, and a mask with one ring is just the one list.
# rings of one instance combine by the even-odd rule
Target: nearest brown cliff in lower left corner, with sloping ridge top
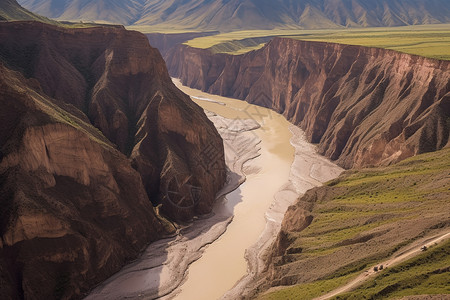
[[0,65],[0,298],[78,298],[163,233],[125,155]]

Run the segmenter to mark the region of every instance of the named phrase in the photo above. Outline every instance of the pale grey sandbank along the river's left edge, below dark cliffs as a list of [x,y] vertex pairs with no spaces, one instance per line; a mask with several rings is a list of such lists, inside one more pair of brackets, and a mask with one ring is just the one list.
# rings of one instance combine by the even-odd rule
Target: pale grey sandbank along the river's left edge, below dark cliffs
[[[259,156],[261,141],[252,131],[260,126],[251,119],[236,123],[213,113],[208,113],[208,117],[225,141],[229,168],[227,184],[218,194],[213,214],[183,228],[176,237],[152,243],[139,259],[100,284],[86,299],[155,299],[168,295],[183,282],[189,265],[202,256],[205,247],[225,232],[233,219],[234,207],[241,201],[243,165]],[[223,197],[226,194],[230,195],[227,199]]]

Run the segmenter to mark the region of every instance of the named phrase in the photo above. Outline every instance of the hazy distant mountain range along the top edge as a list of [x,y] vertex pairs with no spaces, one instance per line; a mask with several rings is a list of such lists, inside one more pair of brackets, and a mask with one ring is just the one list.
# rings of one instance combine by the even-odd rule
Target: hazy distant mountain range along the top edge
[[448,0],[20,0],[61,20],[230,31],[450,22]]

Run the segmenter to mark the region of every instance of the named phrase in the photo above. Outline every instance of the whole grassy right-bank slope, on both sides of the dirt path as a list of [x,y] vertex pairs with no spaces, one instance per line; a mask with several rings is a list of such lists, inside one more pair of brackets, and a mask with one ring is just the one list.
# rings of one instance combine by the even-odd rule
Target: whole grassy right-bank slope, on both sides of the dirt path
[[[420,236],[435,233],[439,227],[450,225],[450,149],[418,155],[393,166],[346,172],[329,182],[327,197],[321,199],[313,209],[314,221],[305,230],[290,233],[290,248],[302,248],[301,253],[286,255],[287,265],[315,258],[330,258],[341,250],[348,253],[367,251],[364,259],[346,264],[318,280],[305,282],[289,288],[278,289],[261,296],[261,299],[312,299],[325,294],[361,273],[382,259],[401,252]],[[433,218],[427,225],[425,219]],[[372,222],[367,217],[372,216]],[[368,233],[390,231],[402,226],[426,228],[419,235],[394,234],[389,240],[390,250],[371,251],[372,241],[358,241]],[[435,224],[432,227],[427,227]],[[437,229],[436,229],[437,228]],[[408,234],[407,230],[404,230]],[[406,239],[405,239],[406,237]],[[392,239],[397,239],[393,241]],[[354,243],[354,244],[352,244]],[[379,241],[375,241],[380,243]],[[354,293],[351,299],[386,298],[415,294],[448,294],[450,250],[447,242],[442,247],[413,258],[389,269],[369,281]],[[386,249],[389,249],[387,247]],[[372,249],[373,250],[373,249]],[[289,248],[288,248],[289,252]],[[293,251],[295,252],[295,251]],[[344,258],[343,258],[344,259]],[[300,264],[301,265],[301,264]],[[320,267],[320,266],[319,266]],[[326,266],[322,266],[326,268]],[[444,273],[432,272],[447,268]],[[302,269],[297,269],[302,272]]]

